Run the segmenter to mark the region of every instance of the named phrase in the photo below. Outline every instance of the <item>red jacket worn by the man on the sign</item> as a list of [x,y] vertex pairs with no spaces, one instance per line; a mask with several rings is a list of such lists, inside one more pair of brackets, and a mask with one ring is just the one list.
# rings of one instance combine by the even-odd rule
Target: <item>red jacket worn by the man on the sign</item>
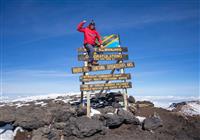
[[95,45],[96,39],[99,41],[100,44],[102,44],[101,36],[99,35],[99,33],[95,29],[91,30],[88,27],[83,28],[83,25],[84,22],[79,23],[77,30],[84,33],[84,44],[88,43],[91,45]]

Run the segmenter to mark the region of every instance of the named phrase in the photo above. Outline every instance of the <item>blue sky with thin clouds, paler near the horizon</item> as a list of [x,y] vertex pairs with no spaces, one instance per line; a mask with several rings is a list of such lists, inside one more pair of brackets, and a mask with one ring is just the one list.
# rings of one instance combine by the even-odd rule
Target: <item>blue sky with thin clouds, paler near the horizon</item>
[[1,0],[1,93],[79,92],[77,24],[128,47],[131,95],[199,96],[198,0]]

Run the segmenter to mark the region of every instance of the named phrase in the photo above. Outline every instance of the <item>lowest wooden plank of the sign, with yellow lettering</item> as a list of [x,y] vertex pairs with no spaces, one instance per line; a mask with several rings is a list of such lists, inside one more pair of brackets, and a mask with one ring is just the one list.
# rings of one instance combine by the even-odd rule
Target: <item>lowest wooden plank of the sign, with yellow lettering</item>
[[84,84],[80,86],[81,91],[95,91],[95,90],[111,90],[132,88],[131,82],[117,82],[117,83],[102,83],[102,84]]

